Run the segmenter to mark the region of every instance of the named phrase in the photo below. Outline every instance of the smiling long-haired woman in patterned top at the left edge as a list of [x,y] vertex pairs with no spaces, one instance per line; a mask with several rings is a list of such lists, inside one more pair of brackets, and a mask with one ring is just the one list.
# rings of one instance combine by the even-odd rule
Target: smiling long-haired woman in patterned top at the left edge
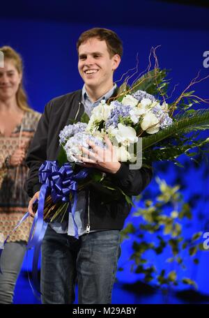
[[[0,68],[0,235],[6,239],[27,211],[24,192],[26,151],[36,130],[40,113],[27,103],[22,86],[22,59],[11,47],[0,47],[4,65]],[[27,218],[10,236],[0,259],[0,303],[12,303],[15,282],[26,250],[31,227]]]

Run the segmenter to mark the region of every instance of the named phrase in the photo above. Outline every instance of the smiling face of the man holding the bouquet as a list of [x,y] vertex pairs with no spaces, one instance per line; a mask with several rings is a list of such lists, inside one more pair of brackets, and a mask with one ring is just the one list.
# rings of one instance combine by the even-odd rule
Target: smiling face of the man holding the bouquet
[[113,73],[121,58],[118,54],[109,56],[104,40],[90,38],[79,46],[78,54],[79,74],[87,89],[98,89],[102,86],[105,88],[113,84]]

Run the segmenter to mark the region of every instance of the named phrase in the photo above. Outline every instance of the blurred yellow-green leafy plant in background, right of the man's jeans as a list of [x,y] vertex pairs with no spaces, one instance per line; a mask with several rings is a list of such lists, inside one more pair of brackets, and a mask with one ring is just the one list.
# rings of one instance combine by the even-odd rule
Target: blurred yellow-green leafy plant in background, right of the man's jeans
[[[133,216],[140,218],[138,226],[131,223],[122,231],[123,240],[132,237],[131,269],[143,276],[146,282],[152,282],[162,288],[177,286],[181,283],[196,288],[196,282],[183,277],[185,263],[192,259],[199,264],[202,243],[202,232],[196,232],[185,238],[183,222],[191,220],[192,212],[189,204],[184,202],[179,185],[168,185],[166,181],[156,178],[159,195],[155,201],[146,199],[144,207],[134,211]],[[146,258],[147,252],[153,252],[155,257],[163,257],[169,252],[169,258],[164,259],[164,269],[153,266]],[[171,264],[168,266],[168,264]],[[170,267],[173,266],[173,269]],[[168,269],[169,268],[169,269]]]

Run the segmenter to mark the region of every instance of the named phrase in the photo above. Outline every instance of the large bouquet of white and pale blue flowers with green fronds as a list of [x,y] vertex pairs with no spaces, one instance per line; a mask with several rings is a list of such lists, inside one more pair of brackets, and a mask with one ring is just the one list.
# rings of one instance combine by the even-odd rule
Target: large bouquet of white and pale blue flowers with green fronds
[[[197,77],[176,100],[167,103],[167,70],[155,67],[134,80],[132,85],[127,84],[126,79],[116,91],[116,96],[107,101],[102,100],[93,109],[90,118],[84,114],[81,122],[65,126],[59,134],[61,151],[56,171],[59,173],[59,169],[66,165],[71,171],[71,179],[65,175],[69,183],[67,188],[64,186],[68,199],[65,196],[63,204],[58,192],[49,195],[45,201],[45,220],[63,217],[75,200],[73,196],[77,191],[91,183],[97,183],[103,190],[111,190],[112,199],[119,193],[132,204],[132,199],[111,183],[107,174],[98,169],[81,167],[81,147],[91,150],[89,140],[105,148],[104,137],[109,137],[118,160],[132,164],[132,169],[136,169],[134,164],[139,169],[141,165],[150,167],[150,162],[162,160],[180,165],[177,158],[181,154],[189,158],[196,156],[198,152],[190,152],[192,149],[207,153],[204,146],[208,144],[209,138],[200,138],[199,133],[209,128],[209,110],[192,109],[192,105],[200,101],[207,103],[207,100],[195,96],[194,91],[188,91],[196,82],[200,82]],[[140,161],[140,165],[137,161]],[[74,189],[73,183],[76,183]],[[53,191],[56,191],[55,188]]]

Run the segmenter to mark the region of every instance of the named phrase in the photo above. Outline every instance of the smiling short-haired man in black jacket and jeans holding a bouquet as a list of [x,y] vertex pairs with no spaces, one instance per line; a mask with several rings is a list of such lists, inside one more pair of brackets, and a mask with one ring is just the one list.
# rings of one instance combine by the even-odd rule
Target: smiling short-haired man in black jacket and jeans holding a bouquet
[[[26,159],[30,167],[26,189],[30,197],[29,213],[38,198],[38,169],[45,160],[56,160],[59,153],[59,132],[70,119],[79,121],[84,112],[89,116],[93,107],[104,98],[116,94],[113,74],[121,62],[123,47],[116,33],[94,28],[82,33],[77,42],[78,69],[84,80],[82,90],[54,98],[45,107],[36,135]],[[150,182],[150,169],[130,170],[116,160],[113,146],[106,138],[107,149],[90,143],[91,156],[82,156],[86,167],[95,167],[111,176],[127,195],[139,195]],[[85,154],[88,151],[82,149]],[[105,156],[103,156],[105,155]],[[87,156],[88,157],[88,156]],[[104,158],[111,158],[105,160]],[[74,228],[68,232],[66,223],[50,223],[42,243],[41,292],[43,303],[73,303],[75,282],[79,303],[111,303],[111,290],[120,255],[120,230],[130,206],[124,196],[110,203],[97,185],[79,192]],[[106,195],[107,197],[107,195]],[[68,232],[68,234],[67,234]]]

